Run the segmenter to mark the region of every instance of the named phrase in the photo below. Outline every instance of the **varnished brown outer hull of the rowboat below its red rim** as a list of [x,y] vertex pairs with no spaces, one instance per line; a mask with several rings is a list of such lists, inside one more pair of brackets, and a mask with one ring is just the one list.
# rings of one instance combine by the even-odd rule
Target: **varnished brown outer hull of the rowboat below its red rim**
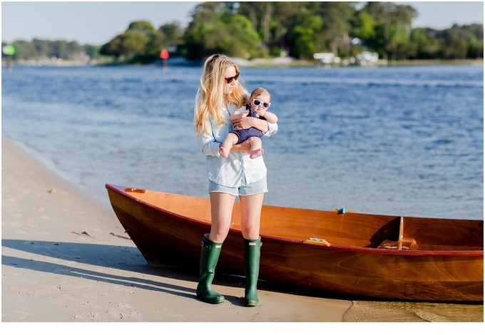
[[[198,198],[193,209],[204,211],[207,220],[194,220],[133,197],[126,187],[106,187],[118,220],[149,264],[198,267],[200,241],[210,231],[208,200],[199,202]],[[186,206],[195,203],[191,197],[180,199]],[[483,222],[481,225],[483,230]],[[483,249],[424,252],[307,244],[301,239],[265,234],[261,237],[260,279],[387,299],[483,301]],[[218,272],[226,269],[244,274],[242,255],[241,232],[230,229]]]

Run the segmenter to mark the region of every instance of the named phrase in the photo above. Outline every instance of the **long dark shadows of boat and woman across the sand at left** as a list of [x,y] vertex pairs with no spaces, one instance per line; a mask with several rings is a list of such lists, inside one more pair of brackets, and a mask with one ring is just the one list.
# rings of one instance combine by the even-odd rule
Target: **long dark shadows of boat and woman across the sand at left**
[[[63,274],[66,276],[91,279],[98,282],[119,284],[126,287],[150,289],[153,291],[196,299],[195,289],[168,284],[163,282],[163,279],[160,279],[160,282],[158,282],[143,279],[141,277],[143,274],[150,274],[162,278],[165,277],[196,283],[198,282],[197,266],[193,266],[193,264],[190,264],[190,266],[187,264],[163,264],[160,267],[152,267],[146,262],[136,247],[89,243],[29,241],[21,239],[2,239],[1,245],[2,247],[16,249],[22,252],[29,252],[31,254],[38,254],[66,261],[66,264],[58,264],[58,262],[45,262],[29,259],[28,255],[26,258],[2,255],[1,263],[6,266],[53,274]],[[110,271],[103,272],[82,269],[81,267],[76,267],[76,264],[88,264],[107,269],[135,272],[136,274],[133,276],[123,276],[120,274],[112,274]],[[214,284],[244,289],[245,277],[237,274],[223,273],[222,270],[216,270]],[[257,287],[258,289],[270,292],[297,294],[307,297],[344,300],[358,298],[359,300],[367,300],[365,297],[354,297],[346,294],[336,294],[334,292],[305,289],[262,280],[258,282]],[[240,297],[226,297],[226,300],[236,306],[242,306]]]

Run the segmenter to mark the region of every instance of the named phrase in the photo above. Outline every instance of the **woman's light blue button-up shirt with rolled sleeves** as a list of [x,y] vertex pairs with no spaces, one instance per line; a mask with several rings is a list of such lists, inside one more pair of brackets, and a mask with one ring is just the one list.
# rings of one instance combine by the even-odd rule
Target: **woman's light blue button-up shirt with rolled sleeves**
[[[226,187],[240,187],[261,180],[266,175],[266,165],[262,156],[251,159],[248,153],[242,151],[230,153],[228,158],[223,158],[219,154],[220,143],[223,143],[225,136],[233,130],[233,124],[230,122],[230,114],[235,112],[236,107],[233,103],[230,103],[227,109],[222,105],[222,109],[226,124],[219,126],[210,117],[209,131],[211,133],[206,134],[201,130],[196,135],[202,153],[207,157],[209,180]],[[265,136],[277,133],[277,123],[268,122],[267,125],[268,130]]]

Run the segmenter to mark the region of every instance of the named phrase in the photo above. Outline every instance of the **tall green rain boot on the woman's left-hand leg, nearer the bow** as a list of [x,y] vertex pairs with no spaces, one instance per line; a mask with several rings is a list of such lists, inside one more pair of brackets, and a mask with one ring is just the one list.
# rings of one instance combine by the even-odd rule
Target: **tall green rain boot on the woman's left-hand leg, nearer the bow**
[[224,302],[224,296],[215,292],[212,287],[215,266],[218,264],[222,243],[212,242],[209,234],[204,234],[202,252],[200,252],[200,276],[197,285],[197,297],[209,304]]

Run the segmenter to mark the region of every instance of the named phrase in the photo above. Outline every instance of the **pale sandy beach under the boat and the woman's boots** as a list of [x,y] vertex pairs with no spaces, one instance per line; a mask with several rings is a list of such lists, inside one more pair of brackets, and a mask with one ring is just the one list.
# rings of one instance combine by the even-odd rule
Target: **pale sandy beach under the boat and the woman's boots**
[[214,286],[225,303],[205,304],[195,297],[198,269],[148,266],[110,208],[4,139],[1,157],[2,326],[69,321],[483,322],[483,304],[313,297],[270,283],[258,284],[260,306],[246,308],[244,279],[223,275]]

